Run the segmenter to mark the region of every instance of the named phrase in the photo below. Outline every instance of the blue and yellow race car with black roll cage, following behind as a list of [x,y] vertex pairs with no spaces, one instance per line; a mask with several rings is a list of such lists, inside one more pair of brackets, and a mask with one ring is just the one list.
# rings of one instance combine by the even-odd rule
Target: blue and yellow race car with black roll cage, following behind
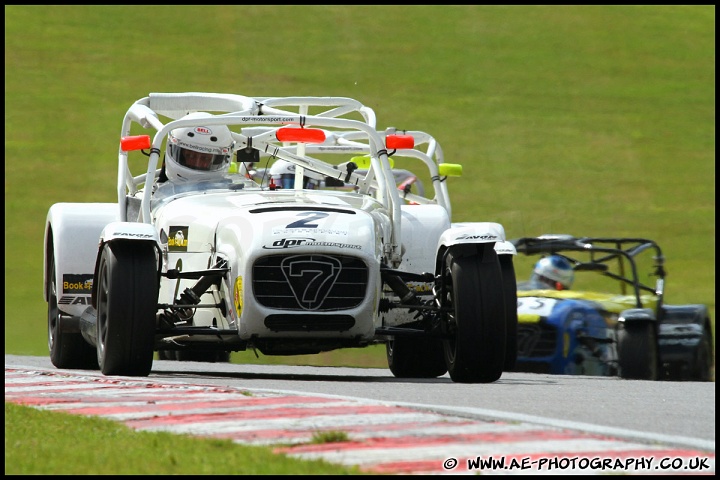
[[[707,306],[663,302],[666,271],[655,242],[570,235],[510,242],[518,255],[556,262],[550,283],[518,284],[515,371],[714,380]],[[654,285],[644,283],[651,276]]]

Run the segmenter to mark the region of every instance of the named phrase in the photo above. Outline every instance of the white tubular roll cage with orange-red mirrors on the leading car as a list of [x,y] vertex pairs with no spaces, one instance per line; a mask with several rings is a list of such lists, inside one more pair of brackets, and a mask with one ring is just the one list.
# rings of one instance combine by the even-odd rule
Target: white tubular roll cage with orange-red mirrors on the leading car
[[[297,107],[299,112],[290,112],[279,107]],[[311,107],[326,107],[326,110],[308,115]],[[227,112],[202,119],[182,119],[190,112]],[[338,118],[356,112],[363,121]],[[164,124],[158,115],[174,119]],[[150,141],[149,135],[131,135],[131,127],[137,123],[144,128],[154,128],[156,133]],[[442,149],[434,138],[424,132],[398,131],[388,128],[376,130],[374,111],[357,100],[346,97],[260,97],[251,98],[235,94],[217,93],[151,93],[148,97],[136,101],[123,119],[118,164],[118,203],[120,221],[128,221],[128,194],[138,192],[140,185],[151,186],[160,173],[161,147],[168,133],[176,128],[213,125],[257,125],[275,124],[276,127],[244,127],[242,133],[232,132],[235,150],[243,152],[243,158],[252,155],[272,156],[287,160],[296,165],[295,188],[302,188],[304,169],[320,173],[353,184],[361,194],[372,194],[388,209],[393,225],[391,238],[385,245],[385,254],[393,267],[402,261],[401,212],[404,201],[420,204],[437,203],[443,206],[448,215],[451,212],[450,199],[444,180],[448,175],[458,175],[459,165],[444,164]],[[332,127],[347,131],[306,128]],[[362,143],[365,140],[368,143]],[[295,143],[295,145],[290,145]],[[427,143],[426,152],[415,149],[415,144]],[[147,171],[134,176],[128,165],[128,152],[150,149]],[[392,150],[389,152],[388,150]],[[255,153],[257,152],[257,153]],[[345,170],[309,156],[310,153],[362,153],[365,157],[353,157],[354,161],[344,165]],[[415,157],[422,160],[430,171],[435,197],[428,199],[421,195],[400,192],[393,179],[390,156]],[[240,155],[238,155],[240,157]],[[358,164],[360,163],[360,164]],[[364,175],[355,173],[362,170]],[[378,174],[379,172],[379,174]],[[300,180],[300,181],[298,181]],[[138,222],[151,222],[152,188],[144,188]]]

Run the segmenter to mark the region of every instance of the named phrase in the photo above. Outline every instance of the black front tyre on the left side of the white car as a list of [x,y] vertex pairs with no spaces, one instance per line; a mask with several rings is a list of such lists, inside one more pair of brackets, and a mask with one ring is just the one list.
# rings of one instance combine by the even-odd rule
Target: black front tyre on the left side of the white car
[[154,245],[145,242],[105,244],[97,282],[100,370],[105,375],[149,375],[159,289]]

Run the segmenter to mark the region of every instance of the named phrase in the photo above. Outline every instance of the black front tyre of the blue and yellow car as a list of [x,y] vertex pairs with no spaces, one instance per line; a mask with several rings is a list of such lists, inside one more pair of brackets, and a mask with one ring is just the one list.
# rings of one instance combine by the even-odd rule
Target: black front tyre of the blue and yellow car
[[658,344],[652,323],[619,324],[617,341],[620,377],[632,380],[658,379]]

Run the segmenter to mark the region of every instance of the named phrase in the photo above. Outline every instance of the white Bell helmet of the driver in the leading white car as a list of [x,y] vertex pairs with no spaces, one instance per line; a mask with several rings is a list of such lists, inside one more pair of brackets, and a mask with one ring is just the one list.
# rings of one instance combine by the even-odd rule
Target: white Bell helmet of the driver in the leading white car
[[[183,119],[209,117],[209,113],[195,112]],[[168,134],[165,174],[172,182],[220,178],[230,169],[234,144],[225,125],[176,128]]]

